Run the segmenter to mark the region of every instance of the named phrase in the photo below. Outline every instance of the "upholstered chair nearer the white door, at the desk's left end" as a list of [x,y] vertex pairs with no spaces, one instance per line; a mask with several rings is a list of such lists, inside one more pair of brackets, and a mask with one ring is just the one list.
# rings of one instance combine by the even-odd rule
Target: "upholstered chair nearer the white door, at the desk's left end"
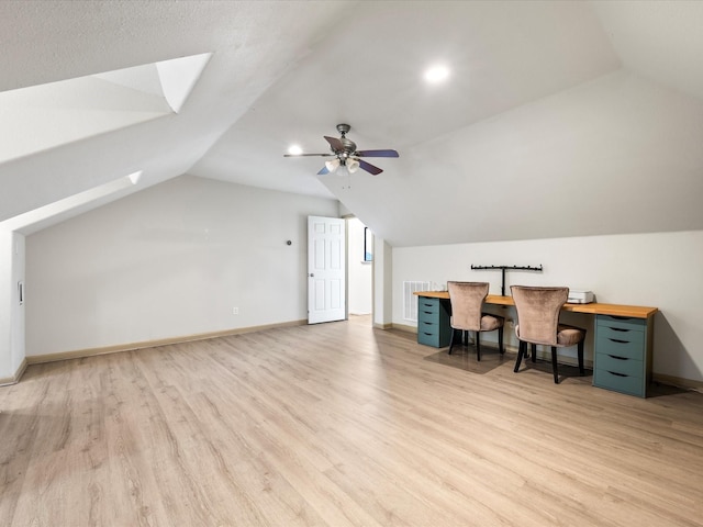
[[483,301],[488,296],[488,282],[448,282],[449,302],[451,303],[451,344],[449,355],[454,348],[457,332],[459,338],[467,332],[476,334],[476,356],[481,360],[481,332],[494,332],[498,329],[498,348],[502,354],[503,349],[503,323],[504,317],[482,313]]

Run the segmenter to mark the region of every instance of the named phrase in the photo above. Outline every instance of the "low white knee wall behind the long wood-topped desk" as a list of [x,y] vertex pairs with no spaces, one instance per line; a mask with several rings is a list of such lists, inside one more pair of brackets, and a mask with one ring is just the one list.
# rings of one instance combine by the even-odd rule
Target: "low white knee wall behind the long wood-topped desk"
[[[507,294],[510,284],[568,285],[593,291],[599,302],[658,307],[654,372],[703,381],[703,231],[394,248],[393,324],[412,325],[402,318],[404,280],[488,281],[500,294],[500,271],[472,264],[544,266],[540,273],[509,271]],[[592,357],[592,317],[566,315],[590,329]]]

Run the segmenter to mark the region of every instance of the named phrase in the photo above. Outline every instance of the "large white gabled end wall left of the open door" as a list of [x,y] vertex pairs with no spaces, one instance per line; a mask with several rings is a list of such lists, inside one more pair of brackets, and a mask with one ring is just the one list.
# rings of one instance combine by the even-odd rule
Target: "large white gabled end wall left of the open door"
[[308,215],[338,203],[185,176],[33,234],[26,355],[305,319]]

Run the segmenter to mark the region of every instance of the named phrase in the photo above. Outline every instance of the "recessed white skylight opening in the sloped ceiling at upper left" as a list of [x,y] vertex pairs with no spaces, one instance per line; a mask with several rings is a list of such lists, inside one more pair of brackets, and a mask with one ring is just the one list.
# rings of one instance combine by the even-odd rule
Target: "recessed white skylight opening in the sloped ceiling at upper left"
[[178,113],[211,55],[0,92],[0,162]]

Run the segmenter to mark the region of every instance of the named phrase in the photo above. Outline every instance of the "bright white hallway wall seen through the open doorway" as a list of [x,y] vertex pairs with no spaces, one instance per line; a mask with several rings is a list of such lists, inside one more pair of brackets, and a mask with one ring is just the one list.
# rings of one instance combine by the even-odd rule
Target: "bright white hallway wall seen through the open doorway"
[[349,314],[371,313],[372,262],[364,261],[365,225],[357,217],[347,220],[347,271]]

